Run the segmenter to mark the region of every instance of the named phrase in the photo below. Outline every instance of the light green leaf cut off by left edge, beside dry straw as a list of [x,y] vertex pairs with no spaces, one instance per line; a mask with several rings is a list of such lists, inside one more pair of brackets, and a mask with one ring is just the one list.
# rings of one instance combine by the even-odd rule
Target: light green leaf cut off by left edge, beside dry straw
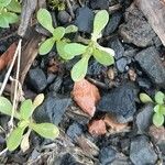
[[12,113],[12,105],[4,97],[0,97],[0,112],[8,114],[8,116],[11,116],[11,113]]

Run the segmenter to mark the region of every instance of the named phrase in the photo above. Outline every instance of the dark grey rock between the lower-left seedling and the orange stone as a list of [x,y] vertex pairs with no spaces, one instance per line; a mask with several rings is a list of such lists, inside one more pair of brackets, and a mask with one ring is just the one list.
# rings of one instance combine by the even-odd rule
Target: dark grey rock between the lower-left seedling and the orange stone
[[34,111],[34,119],[36,122],[52,122],[58,125],[70,102],[70,98],[62,95],[48,96],[43,105]]

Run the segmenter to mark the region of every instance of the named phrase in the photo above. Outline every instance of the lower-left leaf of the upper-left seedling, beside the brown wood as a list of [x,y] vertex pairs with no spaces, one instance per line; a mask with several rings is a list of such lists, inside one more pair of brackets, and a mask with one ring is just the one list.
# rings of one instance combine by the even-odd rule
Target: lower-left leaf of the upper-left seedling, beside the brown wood
[[53,37],[45,40],[45,41],[41,44],[41,46],[40,46],[40,48],[38,48],[38,53],[40,53],[41,55],[47,54],[47,53],[51,52],[51,50],[53,48],[54,43],[55,43],[55,41],[54,41]]

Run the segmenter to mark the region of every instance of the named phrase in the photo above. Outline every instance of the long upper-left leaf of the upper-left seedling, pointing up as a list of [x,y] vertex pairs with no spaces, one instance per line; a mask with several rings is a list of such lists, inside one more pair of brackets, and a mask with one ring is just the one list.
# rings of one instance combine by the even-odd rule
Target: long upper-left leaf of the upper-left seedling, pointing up
[[53,34],[54,28],[53,28],[53,23],[52,23],[51,13],[46,9],[40,9],[37,11],[36,16],[37,16],[38,23]]

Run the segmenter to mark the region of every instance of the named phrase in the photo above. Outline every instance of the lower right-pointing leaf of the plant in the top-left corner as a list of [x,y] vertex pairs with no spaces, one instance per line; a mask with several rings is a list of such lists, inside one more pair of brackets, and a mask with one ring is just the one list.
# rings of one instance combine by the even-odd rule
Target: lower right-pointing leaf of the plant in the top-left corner
[[1,15],[8,20],[9,23],[15,23],[19,21],[19,16],[12,12],[2,12]]

